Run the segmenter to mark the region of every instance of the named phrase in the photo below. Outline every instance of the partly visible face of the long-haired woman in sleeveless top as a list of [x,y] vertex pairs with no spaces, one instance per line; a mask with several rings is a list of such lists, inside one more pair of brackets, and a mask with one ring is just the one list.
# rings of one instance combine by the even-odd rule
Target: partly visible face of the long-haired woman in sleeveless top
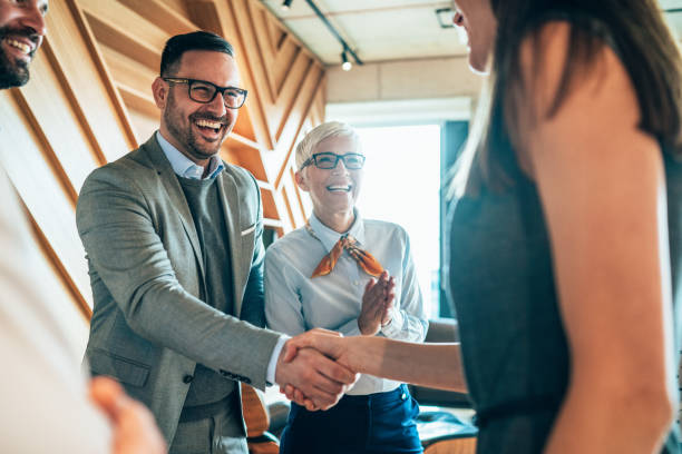
[[495,45],[497,20],[489,0],[455,0],[457,11],[452,22],[462,27],[469,41],[469,67],[475,72],[487,73],[490,53]]

